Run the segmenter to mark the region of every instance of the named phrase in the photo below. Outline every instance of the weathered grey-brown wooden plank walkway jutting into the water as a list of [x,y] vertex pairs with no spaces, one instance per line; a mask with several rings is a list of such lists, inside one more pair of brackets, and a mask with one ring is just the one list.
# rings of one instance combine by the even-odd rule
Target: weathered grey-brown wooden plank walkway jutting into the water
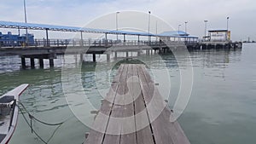
[[145,66],[121,65],[84,144],[189,144],[171,114]]

